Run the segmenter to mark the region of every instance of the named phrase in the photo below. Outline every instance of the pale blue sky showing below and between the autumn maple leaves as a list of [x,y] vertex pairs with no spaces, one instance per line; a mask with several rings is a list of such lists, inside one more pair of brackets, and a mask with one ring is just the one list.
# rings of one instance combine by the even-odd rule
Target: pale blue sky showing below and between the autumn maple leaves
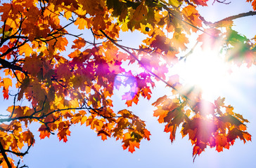
[[[252,10],[248,3],[244,1],[230,0],[231,4],[224,5],[210,4],[210,9],[203,9],[203,16],[206,20],[215,22],[229,15],[243,13]],[[235,29],[243,32],[248,38],[255,34],[255,17],[242,18],[235,21],[239,25]],[[123,34],[120,38],[122,43],[136,47],[138,34]],[[132,38],[134,37],[134,38]],[[139,43],[139,41],[138,41]],[[201,57],[198,55],[198,57]],[[193,62],[192,62],[193,63]],[[214,68],[214,67],[213,67]],[[193,69],[193,71],[197,71]],[[186,75],[186,74],[185,74]],[[76,125],[71,127],[71,137],[68,142],[59,142],[56,135],[51,135],[51,139],[39,140],[38,127],[32,127],[36,144],[30,149],[29,154],[23,158],[29,167],[61,167],[61,168],[128,168],[128,167],[256,167],[256,68],[235,69],[229,77],[224,77],[225,85],[212,88],[210,97],[226,97],[226,104],[231,104],[236,113],[243,114],[244,118],[250,120],[248,132],[252,135],[252,142],[243,144],[236,140],[236,143],[229,150],[217,153],[214,148],[207,148],[193,163],[191,142],[188,137],[181,139],[179,131],[173,144],[169,140],[169,134],[163,132],[164,125],[158,123],[153,117],[153,107],[151,104],[158,97],[163,96],[169,90],[165,90],[165,85],[158,84],[153,90],[153,98],[150,102],[141,99],[138,106],[130,108],[142,120],[146,120],[148,130],[151,131],[151,141],[141,141],[140,149],[133,154],[127,150],[122,150],[122,144],[115,139],[102,141],[89,127]],[[205,77],[206,78],[206,77]],[[213,87],[211,85],[211,87]],[[209,89],[208,89],[209,90]],[[2,102],[2,100],[0,100]],[[114,96],[114,107],[116,111],[125,109],[124,101],[117,93]],[[2,106],[2,105],[1,105]]]

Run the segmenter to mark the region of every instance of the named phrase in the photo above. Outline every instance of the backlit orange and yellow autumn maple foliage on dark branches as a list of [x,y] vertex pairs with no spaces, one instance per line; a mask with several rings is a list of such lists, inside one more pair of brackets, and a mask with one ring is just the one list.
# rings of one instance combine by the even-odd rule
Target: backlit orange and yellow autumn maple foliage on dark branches
[[[233,20],[256,11],[209,22],[198,6],[228,1],[0,2],[0,87],[4,99],[13,100],[13,106],[1,109],[2,167],[27,167],[11,156],[23,158],[34,145],[31,123],[40,124],[41,139],[56,133],[64,142],[71,125],[87,125],[103,141],[113,137],[133,153],[142,139],[150,140],[151,133],[139,113],[113,110],[113,92],[122,86],[129,87],[122,95],[129,107],[151,99],[155,83],[165,83],[169,92],[152,104],[153,116],[165,124],[171,142],[181,128],[182,137],[188,136],[193,145],[194,158],[207,146],[221,152],[236,139],[251,140],[245,125],[249,121],[224,104],[225,98],[209,102],[198,87],[184,85],[179,75],[169,71],[193,52],[188,48],[192,34],[197,36],[195,46],[217,46],[226,62],[254,66],[256,36],[247,38],[232,27]],[[245,3],[256,10],[256,0]],[[131,48],[120,44],[122,31],[136,31],[146,38],[138,48]],[[188,54],[181,56],[184,52]]]

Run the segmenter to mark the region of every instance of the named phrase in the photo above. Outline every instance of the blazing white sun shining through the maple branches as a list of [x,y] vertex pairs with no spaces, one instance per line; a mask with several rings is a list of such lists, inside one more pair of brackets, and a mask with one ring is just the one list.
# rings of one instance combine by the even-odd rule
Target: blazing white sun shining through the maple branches
[[227,85],[229,64],[219,50],[195,48],[177,69],[184,85],[196,85],[202,90],[204,99],[215,99]]

